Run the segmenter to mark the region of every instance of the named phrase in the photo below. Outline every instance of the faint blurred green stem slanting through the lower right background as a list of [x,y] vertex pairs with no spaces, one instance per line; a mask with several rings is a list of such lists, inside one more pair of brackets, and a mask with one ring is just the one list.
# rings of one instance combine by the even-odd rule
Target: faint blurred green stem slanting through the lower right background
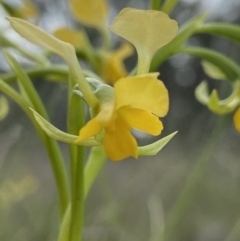
[[217,124],[211,132],[208,142],[205,145],[205,149],[203,150],[196,166],[189,176],[183,191],[168,215],[163,232],[161,231],[154,240],[168,240],[171,234],[176,231],[176,227],[179,225],[183,214],[185,213],[189,204],[192,202],[194,195],[198,191],[201,181],[204,178],[207,167],[212,160],[212,154],[222,133],[221,131],[223,130],[225,121],[226,119],[224,117],[219,117]]

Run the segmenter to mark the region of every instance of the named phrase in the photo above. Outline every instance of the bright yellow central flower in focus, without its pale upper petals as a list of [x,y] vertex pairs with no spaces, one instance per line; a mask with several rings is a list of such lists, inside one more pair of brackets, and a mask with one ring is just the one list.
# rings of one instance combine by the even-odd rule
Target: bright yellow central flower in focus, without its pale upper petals
[[137,158],[137,141],[131,129],[159,135],[163,125],[158,117],[165,116],[168,111],[168,91],[157,76],[158,73],[149,73],[117,81],[114,99],[100,104],[99,113],[80,130],[76,142],[104,130],[103,145],[111,160]]

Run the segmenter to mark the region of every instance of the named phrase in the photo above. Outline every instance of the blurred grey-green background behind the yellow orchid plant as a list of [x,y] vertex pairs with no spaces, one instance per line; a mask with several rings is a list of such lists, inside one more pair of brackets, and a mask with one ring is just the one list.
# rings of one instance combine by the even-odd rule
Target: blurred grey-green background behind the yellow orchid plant
[[[67,0],[33,2],[41,10],[41,28],[51,32],[66,24],[76,26]],[[146,0],[108,2],[109,23],[124,7],[148,6]],[[237,0],[182,0],[170,16],[180,26],[201,12],[209,13],[209,22],[239,24],[239,9]],[[87,31],[97,44],[97,33]],[[113,38],[116,43],[120,41]],[[240,62],[239,46],[225,39],[201,34],[191,37],[188,44],[221,51]],[[1,72],[8,71],[2,55],[0,58]],[[133,66],[135,60],[136,56],[127,64]],[[230,87],[210,79],[200,60],[187,55],[172,57],[159,71],[170,95],[170,111],[163,120],[161,136],[176,130],[178,134],[157,156],[106,163],[86,202],[84,241],[160,240],[166,223],[171,233],[166,240],[238,241],[240,234],[233,234],[240,230],[240,135],[233,127],[232,116],[216,116],[194,97],[194,89],[203,79],[211,88],[218,88],[222,97]],[[34,84],[52,123],[65,130],[67,87],[43,79]],[[9,115],[0,125],[0,240],[53,241],[58,215],[50,164],[30,121],[15,103],[9,103]],[[211,131],[219,122],[221,127],[212,143]],[[140,144],[157,140],[136,135]],[[67,145],[59,144],[68,165]],[[201,158],[205,162],[196,172]],[[183,191],[186,195],[181,198]],[[180,209],[172,218],[176,203]]]

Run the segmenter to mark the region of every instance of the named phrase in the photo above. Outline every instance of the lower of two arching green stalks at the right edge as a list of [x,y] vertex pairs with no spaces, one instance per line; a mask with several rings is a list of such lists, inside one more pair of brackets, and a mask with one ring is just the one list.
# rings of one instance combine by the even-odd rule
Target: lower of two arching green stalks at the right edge
[[239,66],[232,59],[216,51],[207,48],[186,47],[181,48],[178,52],[191,54],[207,60],[211,64],[217,66],[226,75],[227,80],[236,81],[240,76]]

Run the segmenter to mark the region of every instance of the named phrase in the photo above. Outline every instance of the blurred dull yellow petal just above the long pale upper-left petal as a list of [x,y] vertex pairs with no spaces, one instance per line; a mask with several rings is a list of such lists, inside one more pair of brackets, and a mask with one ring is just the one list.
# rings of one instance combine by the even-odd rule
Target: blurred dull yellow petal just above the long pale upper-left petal
[[75,48],[83,48],[85,46],[84,36],[80,31],[62,27],[57,29],[53,35],[58,39],[73,45]]

